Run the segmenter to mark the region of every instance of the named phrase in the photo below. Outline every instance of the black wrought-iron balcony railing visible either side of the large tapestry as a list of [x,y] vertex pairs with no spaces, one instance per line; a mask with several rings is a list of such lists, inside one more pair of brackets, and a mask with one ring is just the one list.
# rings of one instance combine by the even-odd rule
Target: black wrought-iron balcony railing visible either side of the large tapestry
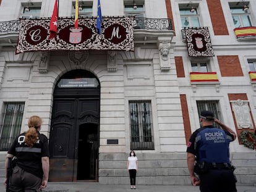
[[[171,19],[149,19],[149,18],[135,18],[134,29],[141,30],[172,30]],[[0,22],[0,35],[8,33],[19,33],[20,21],[11,20],[7,22]]]

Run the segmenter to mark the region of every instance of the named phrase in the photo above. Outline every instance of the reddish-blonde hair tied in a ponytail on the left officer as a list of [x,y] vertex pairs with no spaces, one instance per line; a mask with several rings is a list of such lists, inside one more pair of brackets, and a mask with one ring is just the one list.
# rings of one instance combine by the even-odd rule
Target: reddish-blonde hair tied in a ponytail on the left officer
[[40,117],[33,115],[28,119],[28,130],[25,134],[25,143],[32,148],[33,144],[38,140],[37,130],[40,128],[42,120]]

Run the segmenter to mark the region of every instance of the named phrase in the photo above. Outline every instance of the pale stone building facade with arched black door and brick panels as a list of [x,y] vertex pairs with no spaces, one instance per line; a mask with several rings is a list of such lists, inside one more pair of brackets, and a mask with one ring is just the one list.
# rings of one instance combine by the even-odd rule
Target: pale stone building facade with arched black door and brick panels
[[[96,21],[97,2],[79,1],[79,18]],[[59,17],[73,17],[74,4],[61,0]],[[51,17],[53,7],[50,0],[0,1],[2,160],[12,137],[39,115],[50,181],[129,183],[134,149],[138,183],[190,185],[186,143],[200,127],[200,110],[213,111],[237,138],[255,132],[255,1],[101,0],[103,17],[136,15],[134,51],[15,54],[19,18]],[[189,56],[193,30],[203,30],[212,54]],[[230,149],[238,183],[255,185],[255,150],[239,139]]]

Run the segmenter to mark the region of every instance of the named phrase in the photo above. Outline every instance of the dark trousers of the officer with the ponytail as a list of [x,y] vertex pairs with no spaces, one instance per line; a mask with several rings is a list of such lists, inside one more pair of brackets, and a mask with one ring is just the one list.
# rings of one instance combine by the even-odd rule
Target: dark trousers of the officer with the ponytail
[[41,182],[41,178],[15,166],[12,170],[9,190],[10,192],[37,192],[40,191]]

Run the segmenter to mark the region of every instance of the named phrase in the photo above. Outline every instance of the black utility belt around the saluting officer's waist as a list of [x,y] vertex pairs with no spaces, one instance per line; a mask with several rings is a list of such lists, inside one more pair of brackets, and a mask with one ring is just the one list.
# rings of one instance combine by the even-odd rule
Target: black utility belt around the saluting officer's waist
[[207,173],[208,170],[234,170],[236,169],[233,165],[228,163],[208,163],[208,162],[197,162],[194,166],[194,172],[198,175],[202,175],[203,173]]

